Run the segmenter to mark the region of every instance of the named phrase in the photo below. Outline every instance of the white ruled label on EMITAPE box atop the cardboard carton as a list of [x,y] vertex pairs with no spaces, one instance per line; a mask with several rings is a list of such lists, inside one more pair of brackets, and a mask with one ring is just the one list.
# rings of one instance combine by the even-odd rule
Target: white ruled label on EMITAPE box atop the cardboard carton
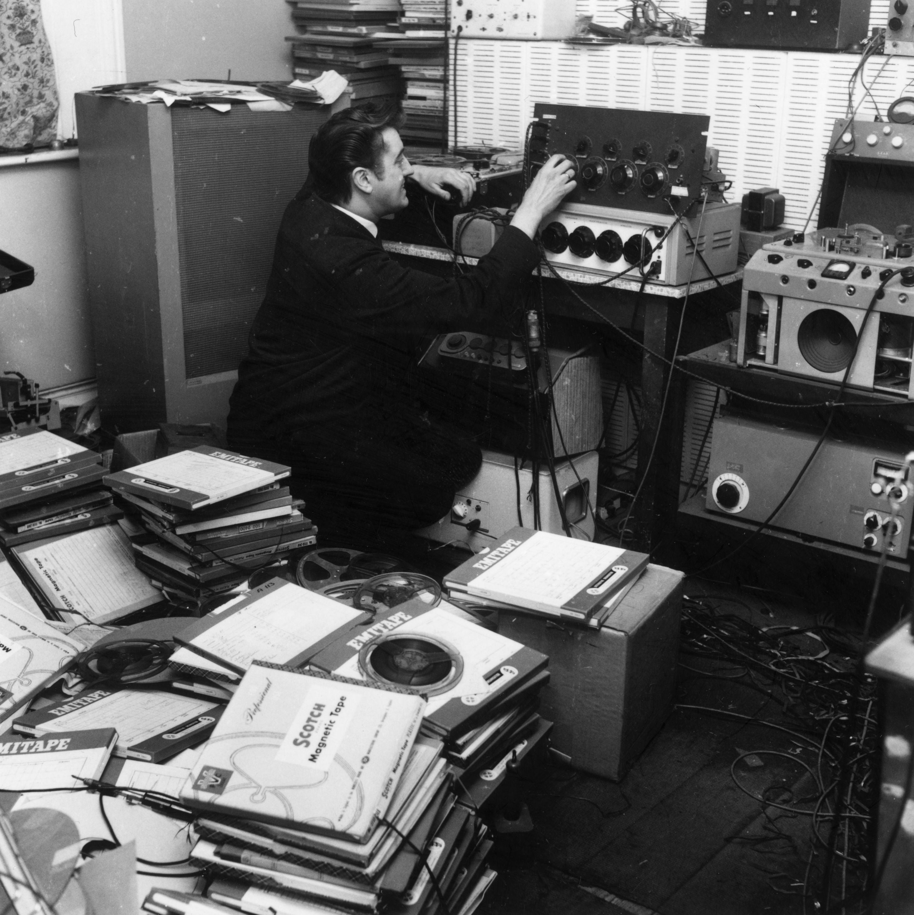
[[623,553],[616,547],[570,537],[533,536],[467,587],[469,594],[561,608]]

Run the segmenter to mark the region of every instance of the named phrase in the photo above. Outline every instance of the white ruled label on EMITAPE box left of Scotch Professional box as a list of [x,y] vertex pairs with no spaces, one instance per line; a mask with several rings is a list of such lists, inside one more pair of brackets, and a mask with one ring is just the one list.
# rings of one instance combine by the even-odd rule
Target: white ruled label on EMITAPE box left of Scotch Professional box
[[118,747],[133,747],[188,718],[202,715],[216,705],[219,704],[174,693],[127,690],[105,696],[68,715],[46,721],[38,729],[44,734],[48,731],[116,727]]

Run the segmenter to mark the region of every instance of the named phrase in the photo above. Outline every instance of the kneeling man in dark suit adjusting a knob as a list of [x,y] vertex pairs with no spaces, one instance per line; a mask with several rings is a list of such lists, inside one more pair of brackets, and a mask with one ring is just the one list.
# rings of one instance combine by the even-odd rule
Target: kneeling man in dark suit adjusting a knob
[[464,202],[475,184],[455,169],[411,166],[397,117],[349,109],[311,141],[231,396],[230,446],[291,464],[308,515],[343,538],[435,522],[479,471],[472,438],[417,402],[416,350],[429,332],[474,328],[516,306],[540,259],[533,236],[575,188],[572,167],[554,156],[475,268],[446,278],[403,266],[376,236],[379,220],[406,207],[406,181],[444,197],[450,185]]

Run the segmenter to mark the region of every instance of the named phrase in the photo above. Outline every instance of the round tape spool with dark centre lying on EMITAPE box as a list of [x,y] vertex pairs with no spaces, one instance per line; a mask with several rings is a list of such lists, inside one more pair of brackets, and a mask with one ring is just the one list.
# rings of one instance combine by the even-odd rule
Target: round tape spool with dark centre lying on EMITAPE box
[[366,678],[376,683],[438,695],[460,682],[463,658],[443,639],[391,633],[362,646],[359,668]]

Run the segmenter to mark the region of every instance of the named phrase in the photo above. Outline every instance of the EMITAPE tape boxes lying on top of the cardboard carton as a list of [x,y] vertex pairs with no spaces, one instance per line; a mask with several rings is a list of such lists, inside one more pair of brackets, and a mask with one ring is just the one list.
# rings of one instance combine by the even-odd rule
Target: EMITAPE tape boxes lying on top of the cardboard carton
[[515,527],[448,573],[444,586],[465,607],[599,629],[649,561],[647,554],[621,547]]

